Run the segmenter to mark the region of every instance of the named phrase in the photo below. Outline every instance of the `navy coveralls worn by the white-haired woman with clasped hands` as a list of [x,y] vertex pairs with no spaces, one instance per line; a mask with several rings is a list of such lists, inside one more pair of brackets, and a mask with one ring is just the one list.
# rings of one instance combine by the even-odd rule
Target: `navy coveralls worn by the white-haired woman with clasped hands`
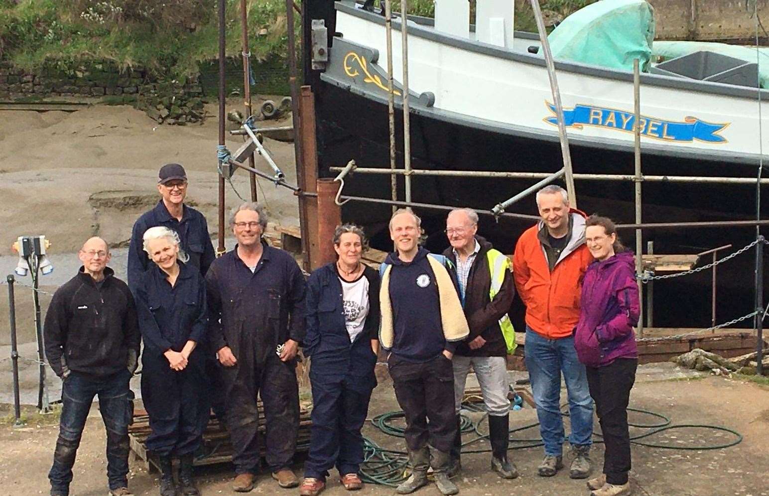
[[[205,335],[208,312],[205,279],[194,266],[179,263],[173,287],[153,264],[136,288],[141,354],[141,397],[152,433],[149,451],[160,456],[194,453],[208,424],[208,381],[205,374]],[[181,371],[171,369],[163,353],[181,351],[187,341],[197,347]]]

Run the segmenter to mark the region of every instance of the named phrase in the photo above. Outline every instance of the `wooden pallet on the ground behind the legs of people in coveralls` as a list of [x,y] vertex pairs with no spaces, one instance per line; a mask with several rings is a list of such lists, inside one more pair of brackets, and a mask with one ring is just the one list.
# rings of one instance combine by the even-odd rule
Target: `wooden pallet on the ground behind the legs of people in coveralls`
[[[262,439],[265,435],[265,415],[261,401],[258,401],[257,408],[259,412],[258,431]],[[299,431],[297,437],[296,452],[305,453],[310,446],[310,420],[311,408],[308,405],[301,405],[299,408]],[[133,423],[128,426],[128,441],[130,444],[129,458],[132,462],[141,464],[148,472],[159,471],[159,461],[155,454],[147,451],[145,442],[151,433],[149,427],[149,417],[145,410],[137,408],[134,411]],[[261,457],[265,456],[264,445],[260,446]],[[212,465],[224,464],[232,461],[232,444],[230,434],[219,421],[211,415],[208,425],[203,432],[203,448],[201,456],[196,456],[194,464]]]

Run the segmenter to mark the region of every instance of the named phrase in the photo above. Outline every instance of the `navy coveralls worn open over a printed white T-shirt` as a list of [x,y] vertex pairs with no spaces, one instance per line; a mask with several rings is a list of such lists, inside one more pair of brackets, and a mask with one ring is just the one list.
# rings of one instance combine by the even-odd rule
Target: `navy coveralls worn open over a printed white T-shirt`
[[379,331],[379,275],[366,267],[368,316],[350,341],[342,288],[334,263],[318,268],[307,283],[305,356],[311,357],[312,428],[305,477],[325,480],[336,465],[340,475],[357,474],[363,462],[361,428],[377,385],[377,355],[371,339]]

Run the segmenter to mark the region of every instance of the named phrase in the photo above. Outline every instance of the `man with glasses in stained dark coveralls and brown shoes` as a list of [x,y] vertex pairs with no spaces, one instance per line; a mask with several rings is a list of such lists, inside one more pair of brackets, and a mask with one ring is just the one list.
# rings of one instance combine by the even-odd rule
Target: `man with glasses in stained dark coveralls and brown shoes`
[[299,430],[296,353],[305,338],[305,276],[288,252],[261,239],[267,214],[255,202],[232,212],[238,245],[206,275],[208,340],[222,365],[234,454],[232,488],[255,487],[259,467],[257,394],[264,404],[265,459],[281,488],[299,484],[291,471]]

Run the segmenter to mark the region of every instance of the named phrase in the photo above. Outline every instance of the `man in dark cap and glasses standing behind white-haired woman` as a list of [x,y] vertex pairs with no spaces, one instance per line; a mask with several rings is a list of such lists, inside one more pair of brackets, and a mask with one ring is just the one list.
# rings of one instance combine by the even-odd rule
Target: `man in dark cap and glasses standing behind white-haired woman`
[[179,248],[189,255],[187,263],[199,268],[203,277],[216,258],[205,217],[195,208],[185,205],[185,168],[178,164],[163,165],[158,173],[158,192],[162,197],[158,205],[141,215],[131,232],[131,245],[128,248],[128,286],[131,291],[135,290],[141,275],[150,265],[141,241],[149,228],[162,225],[176,231],[181,241]]

